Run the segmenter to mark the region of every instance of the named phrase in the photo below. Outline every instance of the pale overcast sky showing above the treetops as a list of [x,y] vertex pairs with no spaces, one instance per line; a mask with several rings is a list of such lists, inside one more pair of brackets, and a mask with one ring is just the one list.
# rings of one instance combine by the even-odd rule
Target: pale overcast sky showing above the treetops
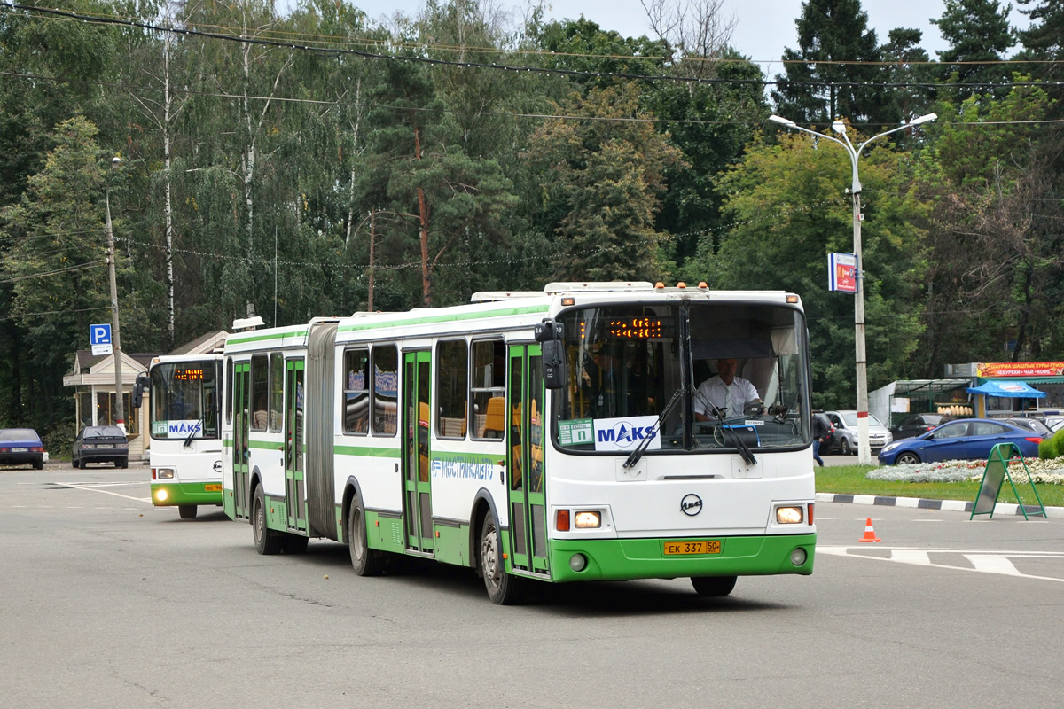
[[[395,12],[416,15],[422,0],[351,0],[373,19],[388,17]],[[509,10],[516,20],[523,17],[521,0],[496,0]],[[725,12],[734,15],[736,26],[732,46],[745,56],[761,64],[766,74],[782,70],[779,63],[783,49],[798,48],[795,19],[801,15],[800,0],[722,0]],[[944,0],[864,0],[862,7],[868,13],[868,24],[876,30],[879,43],[886,43],[887,33],[899,27],[924,32],[921,46],[937,60],[935,51],[947,48],[931,18],[942,17]],[[1007,4],[1004,0],[1002,5]],[[576,19],[583,15],[605,30],[616,30],[621,35],[650,34],[647,14],[639,0],[547,0],[547,16],[552,19]],[[1015,3],[1013,3],[1015,5]],[[1012,11],[1013,27],[1026,29],[1027,17]]]

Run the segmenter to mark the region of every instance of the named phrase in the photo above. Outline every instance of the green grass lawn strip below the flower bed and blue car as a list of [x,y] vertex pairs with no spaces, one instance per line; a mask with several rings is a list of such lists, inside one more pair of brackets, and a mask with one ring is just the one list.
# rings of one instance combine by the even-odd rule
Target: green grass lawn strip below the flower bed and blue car
[[[882,495],[885,497],[928,497],[930,500],[961,500],[975,502],[979,492],[979,482],[974,483],[892,483],[888,480],[869,480],[865,473],[875,466],[831,466],[815,468],[816,491],[836,492],[841,494]],[[1012,475],[1012,482],[1019,490],[1020,500],[1025,505],[1037,505],[1038,502],[1031,491],[1031,484],[1026,477]],[[1064,507],[1064,485],[1035,486],[1042,504],[1046,507]],[[1016,495],[1012,492],[1009,480],[1001,484],[998,502],[1015,504]]]

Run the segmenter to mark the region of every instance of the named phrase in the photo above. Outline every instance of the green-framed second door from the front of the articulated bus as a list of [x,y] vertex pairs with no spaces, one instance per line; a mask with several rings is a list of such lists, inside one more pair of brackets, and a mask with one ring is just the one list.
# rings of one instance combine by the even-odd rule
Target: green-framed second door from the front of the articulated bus
[[430,353],[403,353],[403,517],[406,548],[432,554],[432,484],[430,483]]

